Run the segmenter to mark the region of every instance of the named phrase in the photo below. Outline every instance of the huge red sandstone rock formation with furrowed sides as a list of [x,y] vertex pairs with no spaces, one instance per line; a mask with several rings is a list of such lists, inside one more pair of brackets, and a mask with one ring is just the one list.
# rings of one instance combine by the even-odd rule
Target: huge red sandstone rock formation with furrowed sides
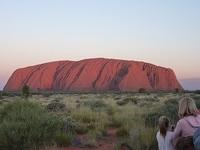
[[17,92],[24,85],[34,91],[174,91],[182,90],[169,68],[117,59],[57,61],[17,69],[4,91]]

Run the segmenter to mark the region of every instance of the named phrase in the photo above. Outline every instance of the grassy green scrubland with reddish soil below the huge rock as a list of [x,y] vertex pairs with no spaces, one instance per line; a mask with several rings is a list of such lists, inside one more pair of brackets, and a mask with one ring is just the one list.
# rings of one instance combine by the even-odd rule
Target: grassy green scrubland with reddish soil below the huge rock
[[1,149],[156,150],[157,120],[178,120],[178,101],[198,93],[34,94],[0,96]]

